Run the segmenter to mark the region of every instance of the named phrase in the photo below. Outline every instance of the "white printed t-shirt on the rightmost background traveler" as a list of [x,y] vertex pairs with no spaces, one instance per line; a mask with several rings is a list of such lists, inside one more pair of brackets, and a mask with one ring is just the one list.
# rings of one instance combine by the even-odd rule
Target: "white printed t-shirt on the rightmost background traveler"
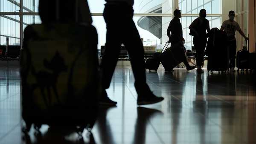
[[230,20],[225,20],[222,23],[222,26],[224,28],[224,32],[227,33],[227,37],[231,37],[230,40],[235,40],[236,37],[236,31],[239,31],[241,28],[239,24],[236,21],[230,21]]

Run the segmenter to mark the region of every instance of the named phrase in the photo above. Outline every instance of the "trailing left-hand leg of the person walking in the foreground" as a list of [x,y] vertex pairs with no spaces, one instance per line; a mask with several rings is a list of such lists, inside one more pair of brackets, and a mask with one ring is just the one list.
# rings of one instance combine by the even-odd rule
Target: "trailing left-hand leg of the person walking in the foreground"
[[116,102],[111,101],[108,98],[105,89],[108,89],[111,83],[113,72],[116,68],[119,52],[121,48],[121,39],[117,37],[119,35],[119,24],[112,18],[111,7],[106,6],[104,10],[104,19],[107,24],[107,35],[105,44],[105,54],[102,58],[102,97],[100,98],[100,104],[116,105]]

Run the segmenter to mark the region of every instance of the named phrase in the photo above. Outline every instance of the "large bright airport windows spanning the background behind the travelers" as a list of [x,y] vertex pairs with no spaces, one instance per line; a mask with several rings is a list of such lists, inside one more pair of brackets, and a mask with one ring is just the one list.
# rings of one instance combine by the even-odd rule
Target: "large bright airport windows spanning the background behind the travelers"
[[[23,1],[24,16],[20,18],[20,1]],[[105,45],[106,25],[103,18],[105,0],[87,0],[93,15],[93,25],[99,35],[99,46]],[[32,23],[41,23],[38,13],[39,0],[1,0],[0,1],[0,45],[6,44],[6,37],[10,37],[10,44],[20,44],[20,20],[23,28]],[[156,46],[161,49],[168,41],[166,35],[172,12],[179,8],[183,14],[181,18],[185,46],[191,49],[192,37],[189,35],[189,25],[198,16],[200,9],[206,9],[211,27],[221,25],[222,0],[134,0],[134,22],[143,38],[145,46]],[[6,13],[9,12],[9,13]],[[28,13],[29,12],[29,13]],[[29,15],[31,14],[31,15]],[[115,17],[113,15],[113,17]],[[116,17],[118,20],[119,17]]]

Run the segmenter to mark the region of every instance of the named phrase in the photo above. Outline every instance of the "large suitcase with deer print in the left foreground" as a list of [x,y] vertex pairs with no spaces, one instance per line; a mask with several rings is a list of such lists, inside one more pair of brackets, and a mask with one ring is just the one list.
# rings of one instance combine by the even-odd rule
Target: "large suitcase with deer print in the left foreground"
[[93,127],[101,91],[97,44],[97,32],[90,23],[26,27],[20,59],[23,132],[32,124],[36,130],[47,124],[59,132],[79,134]]

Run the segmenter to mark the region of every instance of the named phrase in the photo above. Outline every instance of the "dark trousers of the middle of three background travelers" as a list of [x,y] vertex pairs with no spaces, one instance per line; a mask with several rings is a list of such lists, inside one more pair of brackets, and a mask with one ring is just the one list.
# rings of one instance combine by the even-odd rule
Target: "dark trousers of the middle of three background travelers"
[[204,50],[206,47],[207,38],[194,37],[193,43],[196,51],[196,65],[198,68],[201,68],[202,63],[204,61]]

